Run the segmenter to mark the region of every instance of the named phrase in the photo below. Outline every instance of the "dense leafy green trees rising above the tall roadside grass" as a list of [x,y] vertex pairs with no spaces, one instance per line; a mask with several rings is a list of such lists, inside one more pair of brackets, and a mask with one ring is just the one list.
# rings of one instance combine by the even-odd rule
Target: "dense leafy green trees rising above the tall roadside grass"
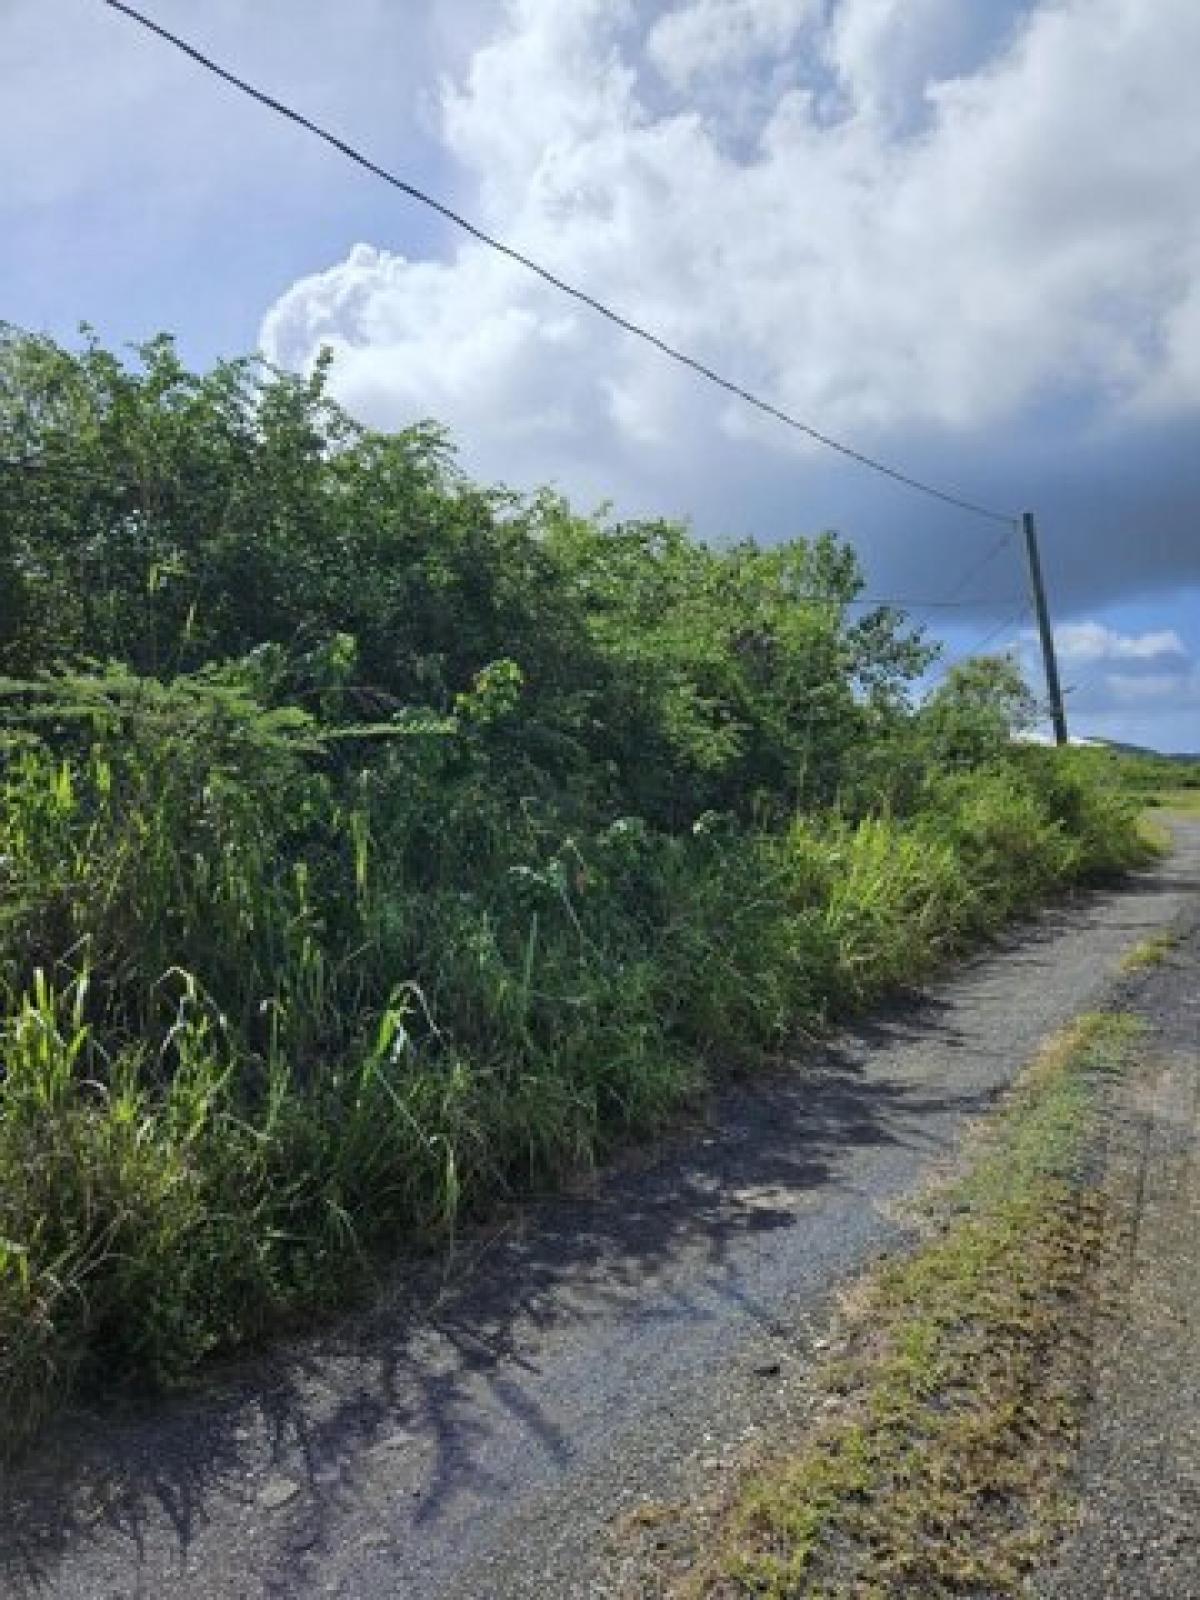
[[853,621],[832,534],[706,546],[482,488],[437,426],[365,429],[328,376],[0,328],[0,670],[253,656],[270,704],[373,723],[510,661],[490,782],[677,829],[830,800],[928,664],[901,613]]

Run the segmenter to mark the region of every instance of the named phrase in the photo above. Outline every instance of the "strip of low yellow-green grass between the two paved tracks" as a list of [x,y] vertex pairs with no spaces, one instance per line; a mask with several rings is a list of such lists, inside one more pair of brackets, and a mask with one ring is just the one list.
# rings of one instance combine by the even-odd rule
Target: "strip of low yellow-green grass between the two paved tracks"
[[934,1197],[936,1232],[867,1283],[826,1421],[742,1483],[693,1594],[1018,1589],[1066,1514],[1110,1234],[1091,1109],[1136,1038],[1133,1018],[1086,1016],[1027,1069]]

